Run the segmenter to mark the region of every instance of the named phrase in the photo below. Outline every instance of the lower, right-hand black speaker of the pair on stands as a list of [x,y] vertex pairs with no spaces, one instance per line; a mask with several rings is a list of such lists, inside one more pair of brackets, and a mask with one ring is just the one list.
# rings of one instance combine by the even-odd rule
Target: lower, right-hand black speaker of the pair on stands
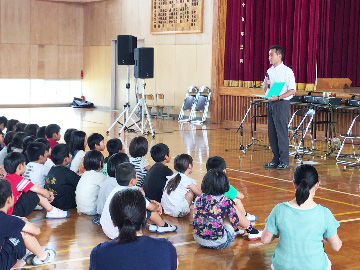
[[134,58],[135,78],[154,78],[154,48],[136,48]]

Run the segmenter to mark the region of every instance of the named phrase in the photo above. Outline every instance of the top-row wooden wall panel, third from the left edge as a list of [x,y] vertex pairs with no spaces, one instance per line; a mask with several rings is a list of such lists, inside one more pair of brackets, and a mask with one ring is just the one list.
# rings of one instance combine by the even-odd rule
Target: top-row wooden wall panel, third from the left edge
[[58,45],[83,46],[84,5],[59,3]]

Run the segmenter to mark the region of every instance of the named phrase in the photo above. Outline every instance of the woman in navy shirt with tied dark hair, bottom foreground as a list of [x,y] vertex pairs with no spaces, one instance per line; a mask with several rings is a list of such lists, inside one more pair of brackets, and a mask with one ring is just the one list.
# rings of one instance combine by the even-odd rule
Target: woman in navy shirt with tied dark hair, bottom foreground
[[119,236],[97,245],[90,255],[91,269],[174,270],[175,247],[166,239],[143,235],[146,207],[137,189],[117,192],[110,203],[111,219]]

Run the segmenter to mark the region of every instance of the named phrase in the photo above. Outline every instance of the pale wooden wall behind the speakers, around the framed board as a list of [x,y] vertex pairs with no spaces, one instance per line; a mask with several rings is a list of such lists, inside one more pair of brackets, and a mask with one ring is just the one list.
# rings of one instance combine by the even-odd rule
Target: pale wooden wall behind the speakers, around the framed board
[[[117,35],[134,35],[155,49],[155,77],[146,80],[146,93],[164,93],[166,105],[178,113],[186,90],[194,84],[211,86],[213,0],[204,1],[200,34],[151,35],[150,0],[108,0],[85,4],[84,94],[98,106],[110,106],[110,42]],[[99,57],[100,55],[105,58]],[[131,67],[131,70],[133,67]],[[102,70],[101,74],[95,74]],[[131,72],[133,74],[133,72]],[[117,67],[116,106],[125,102],[126,67]],[[130,93],[134,105],[133,80]]]

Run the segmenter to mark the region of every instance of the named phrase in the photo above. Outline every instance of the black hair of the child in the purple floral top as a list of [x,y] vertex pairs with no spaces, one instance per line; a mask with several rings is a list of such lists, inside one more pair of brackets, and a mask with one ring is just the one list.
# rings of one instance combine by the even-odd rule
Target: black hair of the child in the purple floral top
[[220,170],[209,170],[201,183],[201,190],[206,195],[222,195],[230,188],[226,173]]

